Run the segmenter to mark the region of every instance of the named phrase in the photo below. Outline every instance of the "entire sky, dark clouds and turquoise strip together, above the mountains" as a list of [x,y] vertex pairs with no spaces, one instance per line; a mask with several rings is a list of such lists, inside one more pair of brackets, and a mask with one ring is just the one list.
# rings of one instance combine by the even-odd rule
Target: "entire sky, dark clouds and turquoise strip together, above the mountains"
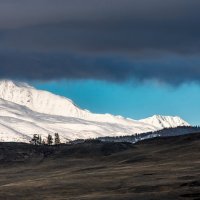
[[199,0],[0,0],[0,79],[82,108],[200,124]]

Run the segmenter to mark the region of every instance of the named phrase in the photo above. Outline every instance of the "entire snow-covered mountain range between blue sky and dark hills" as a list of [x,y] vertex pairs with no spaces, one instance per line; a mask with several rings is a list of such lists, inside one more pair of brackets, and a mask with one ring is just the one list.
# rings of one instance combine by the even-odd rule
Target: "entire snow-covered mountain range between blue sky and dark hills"
[[62,141],[132,135],[165,127],[188,126],[179,117],[132,120],[80,109],[70,99],[28,84],[0,81],[0,141],[28,142],[33,134],[58,132]]

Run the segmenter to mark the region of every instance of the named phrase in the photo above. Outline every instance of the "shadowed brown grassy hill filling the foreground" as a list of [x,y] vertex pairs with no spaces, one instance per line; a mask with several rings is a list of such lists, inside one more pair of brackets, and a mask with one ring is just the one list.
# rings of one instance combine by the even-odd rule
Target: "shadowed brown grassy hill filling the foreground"
[[0,144],[0,199],[200,199],[200,134],[137,144]]

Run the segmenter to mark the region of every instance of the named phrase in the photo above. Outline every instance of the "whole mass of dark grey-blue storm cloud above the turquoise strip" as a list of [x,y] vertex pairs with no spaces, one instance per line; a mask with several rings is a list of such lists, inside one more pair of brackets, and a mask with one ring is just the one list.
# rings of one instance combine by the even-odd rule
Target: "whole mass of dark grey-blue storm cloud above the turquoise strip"
[[199,8],[198,0],[0,0],[0,77],[199,80]]

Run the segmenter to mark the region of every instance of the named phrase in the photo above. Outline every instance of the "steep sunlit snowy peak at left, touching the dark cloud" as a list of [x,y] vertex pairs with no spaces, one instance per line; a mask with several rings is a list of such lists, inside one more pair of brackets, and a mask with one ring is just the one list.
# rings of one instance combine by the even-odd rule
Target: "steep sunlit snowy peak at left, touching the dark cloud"
[[37,90],[23,82],[1,80],[0,98],[43,114],[78,117],[87,113],[70,99]]

